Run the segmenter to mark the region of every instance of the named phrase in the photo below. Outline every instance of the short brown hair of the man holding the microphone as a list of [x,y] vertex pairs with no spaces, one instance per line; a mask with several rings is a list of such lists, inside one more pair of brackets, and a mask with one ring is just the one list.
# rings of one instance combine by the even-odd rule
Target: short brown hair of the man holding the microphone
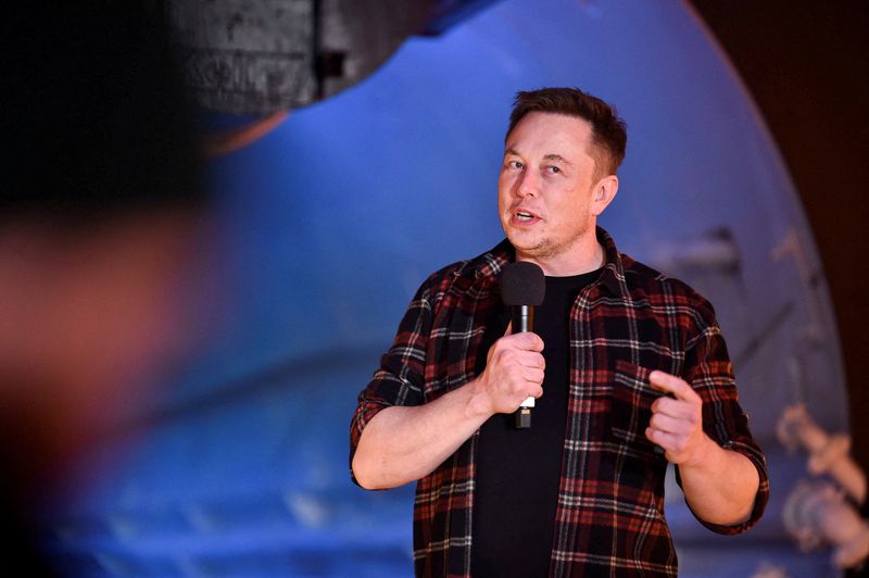
[[509,115],[506,141],[519,121],[530,112],[565,114],[588,121],[591,124],[592,146],[589,154],[594,159],[595,174],[615,175],[625,159],[628,144],[628,128],[619,118],[618,111],[578,88],[541,88],[519,91]]

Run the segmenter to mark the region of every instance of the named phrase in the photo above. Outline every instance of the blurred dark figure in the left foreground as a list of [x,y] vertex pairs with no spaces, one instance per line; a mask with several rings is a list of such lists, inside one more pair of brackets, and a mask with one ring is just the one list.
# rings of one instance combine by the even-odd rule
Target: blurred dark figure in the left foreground
[[3,575],[51,571],[38,508],[186,335],[178,290],[206,199],[163,14],[130,0],[3,9]]

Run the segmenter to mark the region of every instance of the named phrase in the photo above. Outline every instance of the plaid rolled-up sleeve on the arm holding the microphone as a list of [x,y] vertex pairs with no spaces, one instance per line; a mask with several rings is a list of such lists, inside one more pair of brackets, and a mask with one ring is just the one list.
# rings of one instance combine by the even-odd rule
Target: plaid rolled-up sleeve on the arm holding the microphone
[[365,426],[386,407],[420,405],[425,401],[423,382],[431,329],[430,297],[430,284],[426,281],[407,306],[392,347],[381,356],[379,368],[358,395],[350,424],[350,477],[354,483],[357,482],[353,476],[353,455]]

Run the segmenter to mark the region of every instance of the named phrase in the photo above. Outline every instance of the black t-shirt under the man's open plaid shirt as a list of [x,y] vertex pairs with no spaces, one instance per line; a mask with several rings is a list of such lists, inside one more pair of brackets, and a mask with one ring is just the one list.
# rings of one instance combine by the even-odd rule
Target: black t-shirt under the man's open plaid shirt
[[[516,429],[513,415],[496,414],[480,428],[474,493],[471,574],[476,577],[546,576],[567,427],[570,309],[600,269],[571,277],[546,277],[543,304],[534,311],[534,332],[544,343],[543,397],[531,411],[531,427]],[[509,311],[489,324],[478,356],[506,330]]]

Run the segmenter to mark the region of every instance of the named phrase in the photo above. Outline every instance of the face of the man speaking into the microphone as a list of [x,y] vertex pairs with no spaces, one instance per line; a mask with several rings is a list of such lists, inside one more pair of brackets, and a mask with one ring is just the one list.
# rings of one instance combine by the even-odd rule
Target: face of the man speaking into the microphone
[[[532,112],[507,137],[498,180],[498,211],[520,260],[564,261],[594,235],[603,208],[593,200],[591,125],[574,116]],[[604,204],[605,206],[605,204]]]

